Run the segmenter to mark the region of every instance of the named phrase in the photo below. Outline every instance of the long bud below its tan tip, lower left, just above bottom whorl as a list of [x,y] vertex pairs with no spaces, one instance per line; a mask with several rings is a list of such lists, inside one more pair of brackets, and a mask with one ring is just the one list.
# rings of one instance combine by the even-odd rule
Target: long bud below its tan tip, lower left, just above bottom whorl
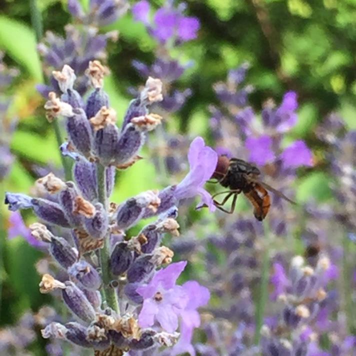
[[95,318],[95,310],[85,294],[70,281],[65,282],[62,297],[68,308],[81,320],[91,322]]

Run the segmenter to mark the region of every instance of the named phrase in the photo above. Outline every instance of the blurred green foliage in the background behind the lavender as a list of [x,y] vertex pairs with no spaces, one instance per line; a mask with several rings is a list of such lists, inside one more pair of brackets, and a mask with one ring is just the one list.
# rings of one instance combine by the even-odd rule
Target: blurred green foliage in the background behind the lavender
[[[82,1],[85,4],[85,0]],[[290,139],[302,138],[313,151],[314,166],[298,173],[294,184],[298,201],[313,197],[324,202],[332,199],[329,182],[337,180],[328,172],[324,142],[315,135],[315,128],[332,111],[343,117],[348,129],[356,128],[356,1],[355,0],[199,0],[185,1],[185,13],[200,20],[196,39],[171,55],[192,65],[185,70],[174,87],[190,88],[192,94],[185,104],[166,120],[171,134],[211,139],[208,105],[217,103],[213,84],[224,80],[229,69],[248,62],[245,82],[253,85],[249,102],[256,111],[272,97],[280,102],[287,90],[298,94],[298,123],[289,133]],[[150,1],[153,7],[162,1]],[[44,116],[43,98],[34,89],[43,82],[40,56],[36,50],[33,29],[33,1],[2,0],[0,8],[0,50],[3,61],[16,67],[15,77],[7,93],[11,104],[6,120],[17,120],[10,140],[15,156],[9,174],[1,184],[5,190],[28,192],[41,168],[60,171],[61,161],[51,125]],[[46,30],[64,33],[71,22],[65,0],[40,0],[38,9]],[[132,66],[132,60],[151,63],[157,44],[144,25],[134,21],[132,14],[100,28],[101,32],[117,29],[117,42],[107,46],[107,65],[111,73],[105,89],[112,106],[122,118],[132,96],[128,87],[143,83]],[[149,148],[146,151],[149,154]],[[114,193],[116,201],[148,188],[159,188],[154,162],[147,159],[118,177]],[[167,181],[176,180],[167,178]],[[355,207],[356,209],[356,207]],[[21,236],[8,240],[8,213],[4,206],[0,245],[0,328],[14,324],[28,309],[54,301],[38,292],[39,275],[34,267],[41,252]],[[190,211],[190,219],[197,213]],[[34,221],[29,212],[23,214],[26,224]],[[189,226],[192,221],[184,222]],[[42,354],[45,341],[38,338],[31,350]]]

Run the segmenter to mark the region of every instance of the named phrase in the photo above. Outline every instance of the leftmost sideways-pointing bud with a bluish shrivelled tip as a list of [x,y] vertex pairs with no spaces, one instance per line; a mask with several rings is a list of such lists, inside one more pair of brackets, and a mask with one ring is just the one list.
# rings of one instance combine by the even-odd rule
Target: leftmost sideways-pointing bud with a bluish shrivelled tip
[[70,227],[70,223],[65,217],[64,211],[56,202],[41,198],[31,200],[35,214],[49,224],[55,224],[62,227]]

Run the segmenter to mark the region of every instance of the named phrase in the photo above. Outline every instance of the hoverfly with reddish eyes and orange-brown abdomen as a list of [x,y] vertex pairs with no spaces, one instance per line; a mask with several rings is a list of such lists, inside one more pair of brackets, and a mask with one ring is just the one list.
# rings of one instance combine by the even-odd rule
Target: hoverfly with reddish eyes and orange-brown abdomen
[[[217,195],[226,194],[221,202],[213,200],[215,206],[224,212],[232,213],[235,209],[237,195],[242,192],[254,208],[254,217],[262,221],[266,217],[270,207],[270,197],[267,190],[295,204],[293,200],[290,200],[280,191],[258,180],[259,174],[259,169],[251,163],[239,158],[228,158],[225,155],[220,155],[211,178],[217,179],[216,183],[220,183],[229,190],[218,192],[212,196],[214,198]],[[230,210],[226,210],[222,206],[231,196]]]

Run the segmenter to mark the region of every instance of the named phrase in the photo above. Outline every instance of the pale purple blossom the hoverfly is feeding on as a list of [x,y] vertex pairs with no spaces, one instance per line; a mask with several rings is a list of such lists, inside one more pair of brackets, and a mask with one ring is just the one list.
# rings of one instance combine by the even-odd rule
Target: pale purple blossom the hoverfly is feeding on
[[177,200],[200,195],[202,203],[210,211],[215,210],[211,195],[202,186],[210,179],[216,168],[217,153],[209,146],[205,146],[201,137],[196,137],[189,146],[188,151],[189,172],[176,186],[174,197]]

